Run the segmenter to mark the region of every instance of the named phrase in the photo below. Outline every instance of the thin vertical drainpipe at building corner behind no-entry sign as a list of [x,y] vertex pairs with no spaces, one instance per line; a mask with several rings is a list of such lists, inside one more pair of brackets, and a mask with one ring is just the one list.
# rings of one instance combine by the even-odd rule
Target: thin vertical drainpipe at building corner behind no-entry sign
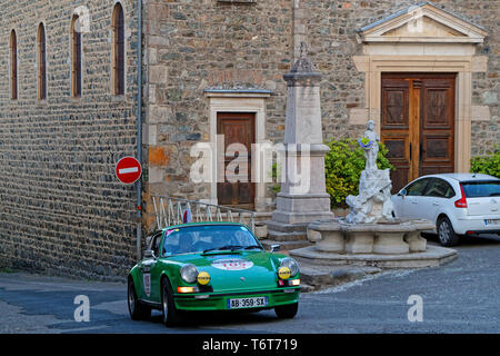
[[[137,0],[137,159],[142,165],[142,0]],[[137,181],[137,259],[141,259],[142,235],[142,177]]]

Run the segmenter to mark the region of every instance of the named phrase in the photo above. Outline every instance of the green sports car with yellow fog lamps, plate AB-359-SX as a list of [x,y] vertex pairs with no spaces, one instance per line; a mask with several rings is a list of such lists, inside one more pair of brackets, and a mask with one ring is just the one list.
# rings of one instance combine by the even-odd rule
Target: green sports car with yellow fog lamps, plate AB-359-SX
[[268,253],[242,224],[192,222],[147,238],[147,250],[128,277],[132,319],[160,309],[167,326],[189,310],[274,308],[293,318],[300,293],[299,265]]

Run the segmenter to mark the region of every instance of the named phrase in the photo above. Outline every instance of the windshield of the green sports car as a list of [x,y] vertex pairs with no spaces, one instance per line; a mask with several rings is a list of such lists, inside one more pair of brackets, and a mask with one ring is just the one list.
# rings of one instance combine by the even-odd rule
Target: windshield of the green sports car
[[210,250],[263,249],[250,230],[239,225],[196,225],[168,230],[163,256]]

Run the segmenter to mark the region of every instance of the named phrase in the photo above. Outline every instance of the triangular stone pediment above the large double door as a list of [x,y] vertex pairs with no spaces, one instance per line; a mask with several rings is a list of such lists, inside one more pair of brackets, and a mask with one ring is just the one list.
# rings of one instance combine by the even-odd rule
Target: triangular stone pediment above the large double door
[[481,43],[487,32],[429,2],[412,6],[358,30],[358,40],[370,42]]

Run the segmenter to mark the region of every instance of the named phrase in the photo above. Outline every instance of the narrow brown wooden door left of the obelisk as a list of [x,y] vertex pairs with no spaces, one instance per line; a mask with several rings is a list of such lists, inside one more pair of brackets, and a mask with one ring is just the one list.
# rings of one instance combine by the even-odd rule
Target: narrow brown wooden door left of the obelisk
[[253,209],[256,187],[251,181],[251,169],[252,144],[256,142],[256,113],[219,112],[217,135],[224,137],[223,152],[218,154],[220,155],[218,169],[223,176],[223,181],[217,184],[218,202]]

